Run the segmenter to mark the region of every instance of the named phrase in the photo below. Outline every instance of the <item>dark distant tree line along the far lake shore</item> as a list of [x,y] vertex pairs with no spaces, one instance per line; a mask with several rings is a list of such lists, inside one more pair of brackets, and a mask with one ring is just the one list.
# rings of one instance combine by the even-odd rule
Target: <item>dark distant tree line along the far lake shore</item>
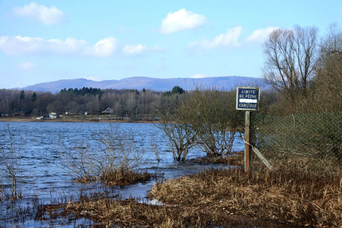
[[91,87],[64,88],[59,93],[0,89],[0,115],[40,116],[50,112],[67,112],[74,117],[84,116],[85,112],[88,112],[88,115],[98,115],[110,108],[117,117],[151,119],[157,115],[154,104],[158,103],[161,97],[166,96],[170,99],[183,92],[179,86],[167,92],[145,88],[101,90]]

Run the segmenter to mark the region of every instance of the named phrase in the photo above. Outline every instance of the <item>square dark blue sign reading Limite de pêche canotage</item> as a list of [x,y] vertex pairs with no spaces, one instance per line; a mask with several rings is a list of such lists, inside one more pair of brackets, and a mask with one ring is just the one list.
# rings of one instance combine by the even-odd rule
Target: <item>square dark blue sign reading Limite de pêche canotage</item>
[[236,109],[246,111],[259,110],[259,98],[259,87],[237,87]]

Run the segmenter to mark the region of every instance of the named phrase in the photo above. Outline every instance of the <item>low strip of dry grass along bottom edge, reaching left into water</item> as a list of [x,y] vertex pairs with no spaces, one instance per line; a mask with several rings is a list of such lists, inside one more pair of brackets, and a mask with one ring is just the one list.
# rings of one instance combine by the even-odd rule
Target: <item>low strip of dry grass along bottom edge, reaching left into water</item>
[[[70,217],[71,216],[71,217]],[[178,205],[148,205],[134,199],[116,200],[113,198],[81,197],[78,202],[42,205],[36,219],[69,220],[86,217],[94,224],[87,227],[288,227],[280,223],[267,223],[260,220],[239,218],[235,215]],[[80,224],[79,227],[83,227]],[[85,227],[85,226],[84,226]]]

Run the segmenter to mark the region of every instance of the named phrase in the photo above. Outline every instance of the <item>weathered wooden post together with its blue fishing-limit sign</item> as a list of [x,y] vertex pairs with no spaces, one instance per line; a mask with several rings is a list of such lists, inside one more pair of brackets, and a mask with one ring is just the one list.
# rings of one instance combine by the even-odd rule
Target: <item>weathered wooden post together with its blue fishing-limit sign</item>
[[246,110],[245,118],[245,172],[249,175],[252,165],[250,153],[250,111],[259,110],[259,87],[237,87],[236,89],[236,109]]

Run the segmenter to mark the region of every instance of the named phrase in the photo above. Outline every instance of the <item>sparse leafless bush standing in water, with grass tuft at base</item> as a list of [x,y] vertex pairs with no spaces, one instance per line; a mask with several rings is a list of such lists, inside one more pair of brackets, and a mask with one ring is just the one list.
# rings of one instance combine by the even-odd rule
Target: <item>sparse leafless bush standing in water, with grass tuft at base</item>
[[[131,132],[122,133],[119,125],[109,125],[97,130],[88,141],[75,139],[66,145],[60,140],[60,164],[81,182],[105,180],[121,184],[132,182],[129,179],[145,180],[150,174],[136,171],[146,161],[142,141],[136,141]],[[128,180],[124,181],[124,177]]]

